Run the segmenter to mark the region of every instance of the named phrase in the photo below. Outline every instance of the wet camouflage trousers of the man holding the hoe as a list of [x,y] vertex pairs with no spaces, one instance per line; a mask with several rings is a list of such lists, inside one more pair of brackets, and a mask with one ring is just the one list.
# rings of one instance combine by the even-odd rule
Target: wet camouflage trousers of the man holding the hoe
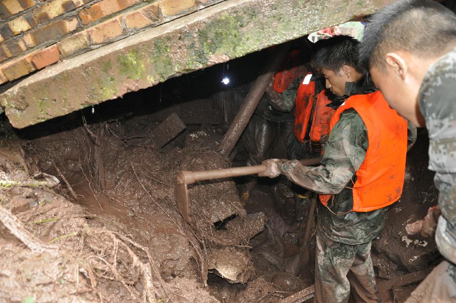
[[350,287],[356,301],[379,302],[370,246],[338,243],[317,232],[314,302],[347,302]]

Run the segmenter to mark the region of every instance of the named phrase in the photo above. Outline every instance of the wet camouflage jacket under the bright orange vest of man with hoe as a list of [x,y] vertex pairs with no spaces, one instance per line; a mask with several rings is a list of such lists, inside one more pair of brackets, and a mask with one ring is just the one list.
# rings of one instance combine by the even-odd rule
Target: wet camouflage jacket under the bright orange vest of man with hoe
[[[365,86],[359,88],[366,89]],[[370,90],[371,87],[366,91]],[[357,91],[353,85],[347,84],[346,98],[354,94]],[[368,243],[384,226],[386,208],[370,212],[351,211],[353,193],[349,187],[356,182],[355,172],[364,161],[368,145],[364,122],[356,110],[347,109],[331,130],[321,166],[305,167],[296,160],[278,165],[281,173],[294,183],[320,194],[334,195],[328,207],[335,214],[319,203],[317,226],[319,232],[339,243]]]

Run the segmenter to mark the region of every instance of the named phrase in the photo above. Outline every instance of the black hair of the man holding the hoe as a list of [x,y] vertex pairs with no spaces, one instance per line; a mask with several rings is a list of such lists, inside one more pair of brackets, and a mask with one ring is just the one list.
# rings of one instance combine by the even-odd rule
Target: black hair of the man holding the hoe
[[326,68],[338,72],[343,65],[358,70],[359,42],[351,36],[337,35],[320,40],[315,44],[315,68]]

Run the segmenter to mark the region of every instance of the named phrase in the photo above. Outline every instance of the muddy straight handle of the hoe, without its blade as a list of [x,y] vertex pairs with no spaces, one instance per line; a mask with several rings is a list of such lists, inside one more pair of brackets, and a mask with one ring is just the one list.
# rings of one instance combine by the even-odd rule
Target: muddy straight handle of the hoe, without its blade
[[[321,158],[304,159],[299,161],[302,165],[310,166],[319,164]],[[232,167],[224,169],[206,170],[206,171],[187,171],[183,170],[177,176],[177,182],[180,184],[193,184],[196,181],[222,179],[231,177],[240,177],[246,175],[254,175],[263,172],[266,169],[265,165],[254,165],[244,167]]]

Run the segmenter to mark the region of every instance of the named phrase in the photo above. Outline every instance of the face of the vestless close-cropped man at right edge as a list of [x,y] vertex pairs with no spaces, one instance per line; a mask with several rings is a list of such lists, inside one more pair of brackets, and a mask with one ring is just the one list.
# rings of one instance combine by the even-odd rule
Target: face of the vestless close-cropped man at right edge
[[378,67],[370,68],[370,75],[375,86],[382,92],[391,108],[395,109],[400,116],[415,126],[424,126],[424,118],[418,104],[421,82],[415,81],[407,74],[401,77],[392,66],[386,65],[385,68],[386,70]]

